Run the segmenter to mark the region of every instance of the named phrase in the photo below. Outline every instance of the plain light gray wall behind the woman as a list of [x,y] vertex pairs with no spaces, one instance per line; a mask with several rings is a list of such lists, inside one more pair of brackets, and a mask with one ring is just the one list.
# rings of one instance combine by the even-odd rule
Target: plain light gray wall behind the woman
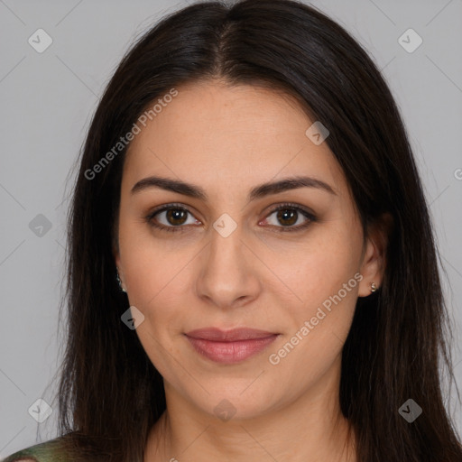
[[[54,388],[48,385],[63,340],[58,307],[66,182],[98,97],[134,39],[162,15],[190,3],[0,0],[0,458],[57,435]],[[365,45],[401,107],[447,273],[460,387],[462,0],[311,4]],[[39,28],[53,41],[42,53],[28,43]],[[409,28],[423,40],[411,53],[398,42]],[[416,43],[412,36],[403,40]],[[30,227],[39,214],[51,222],[50,230]],[[36,220],[40,225],[43,218]],[[41,424],[28,413],[39,398],[55,410]],[[460,432],[462,411],[455,398],[453,387],[448,409]]]

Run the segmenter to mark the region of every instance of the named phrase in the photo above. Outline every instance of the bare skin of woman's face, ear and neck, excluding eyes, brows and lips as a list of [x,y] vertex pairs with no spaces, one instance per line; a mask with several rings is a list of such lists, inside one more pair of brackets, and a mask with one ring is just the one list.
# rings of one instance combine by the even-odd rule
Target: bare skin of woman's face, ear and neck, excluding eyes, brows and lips
[[[144,462],[355,461],[355,437],[348,438],[339,409],[341,351],[357,297],[382,281],[380,233],[364,238],[343,171],[327,143],[305,135],[314,120],[291,97],[220,80],[177,89],[130,145],[115,249],[129,303],[144,316],[137,335],[167,399]],[[334,193],[304,187],[247,203],[256,185],[301,173]],[[208,200],[158,188],[131,192],[152,175],[194,183]],[[150,226],[149,212],[172,202],[190,214],[152,220],[183,223],[183,232]],[[284,202],[310,208],[317,219],[280,232],[290,220],[272,209]],[[213,227],[225,213],[236,222],[227,237]],[[307,220],[297,217],[292,228]],[[271,364],[269,356],[356,273],[362,281]],[[183,335],[210,326],[280,337],[256,356],[222,365],[199,356]],[[224,399],[236,411],[230,420],[214,411]]]

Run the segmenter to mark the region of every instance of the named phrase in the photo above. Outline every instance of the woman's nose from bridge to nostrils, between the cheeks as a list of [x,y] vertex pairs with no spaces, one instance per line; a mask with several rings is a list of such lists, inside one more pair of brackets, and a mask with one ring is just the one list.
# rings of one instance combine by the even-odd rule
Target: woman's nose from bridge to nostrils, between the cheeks
[[211,229],[209,245],[199,255],[198,297],[223,310],[251,303],[261,291],[258,263],[239,225],[226,237]]

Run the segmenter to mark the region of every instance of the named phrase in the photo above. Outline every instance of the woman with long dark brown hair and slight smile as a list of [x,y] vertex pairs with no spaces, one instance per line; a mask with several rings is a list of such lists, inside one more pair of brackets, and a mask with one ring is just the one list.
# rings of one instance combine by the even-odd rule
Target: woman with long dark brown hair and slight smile
[[136,43],[88,132],[68,282],[62,436],[8,462],[462,460],[401,116],[307,5],[191,5]]

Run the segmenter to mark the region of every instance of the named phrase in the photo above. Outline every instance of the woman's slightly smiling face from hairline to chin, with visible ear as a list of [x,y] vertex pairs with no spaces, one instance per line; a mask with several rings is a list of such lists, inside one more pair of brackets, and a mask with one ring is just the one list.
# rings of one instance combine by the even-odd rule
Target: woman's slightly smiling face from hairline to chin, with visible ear
[[[335,393],[356,299],[380,283],[342,170],[289,97],[217,81],[178,90],[130,145],[115,252],[168,401],[239,419]],[[294,177],[306,186],[262,188]],[[201,328],[265,333],[194,340]]]

